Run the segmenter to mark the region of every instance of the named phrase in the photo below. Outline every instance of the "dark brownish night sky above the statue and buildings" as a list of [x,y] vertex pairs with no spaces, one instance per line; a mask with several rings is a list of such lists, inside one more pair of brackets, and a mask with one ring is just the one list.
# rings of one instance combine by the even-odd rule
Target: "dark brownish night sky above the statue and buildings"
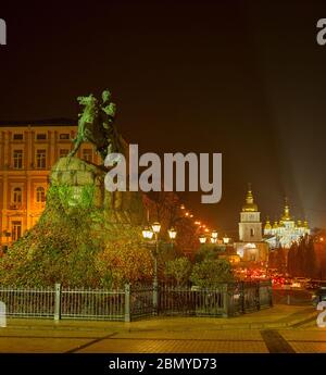
[[263,218],[288,196],[326,226],[325,1],[2,0],[0,17],[0,120],[77,118],[108,87],[141,152],[223,153],[222,201],[185,197],[211,226],[237,229],[248,182]]

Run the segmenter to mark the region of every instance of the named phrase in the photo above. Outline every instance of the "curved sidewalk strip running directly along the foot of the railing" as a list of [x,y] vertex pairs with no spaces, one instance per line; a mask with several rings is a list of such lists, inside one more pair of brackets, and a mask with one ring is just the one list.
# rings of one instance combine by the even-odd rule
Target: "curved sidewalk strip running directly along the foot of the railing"
[[277,304],[272,309],[248,313],[236,317],[180,317],[180,316],[154,316],[137,322],[108,322],[108,321],[82,321],[82,320],[29,320],[8,318],[5,329],[37,329],[37,330],[114,330],[114,332],[148,332],[148,330],[210,330],[210,329],[267,329],[299,327],[317,316],[313,307],[293,307]]

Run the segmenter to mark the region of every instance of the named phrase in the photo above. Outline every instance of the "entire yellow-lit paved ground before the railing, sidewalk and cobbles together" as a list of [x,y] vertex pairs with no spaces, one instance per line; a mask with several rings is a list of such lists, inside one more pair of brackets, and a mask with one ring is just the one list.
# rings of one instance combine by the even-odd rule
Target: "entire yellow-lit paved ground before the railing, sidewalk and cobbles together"
[[0,352],[326,353],[326,328],[316,326],[313,310],[281,309],[287,318],[275,311],[269,322],[266,312],[225,322],[196,317],[59,324],[13,320],[0,328]]

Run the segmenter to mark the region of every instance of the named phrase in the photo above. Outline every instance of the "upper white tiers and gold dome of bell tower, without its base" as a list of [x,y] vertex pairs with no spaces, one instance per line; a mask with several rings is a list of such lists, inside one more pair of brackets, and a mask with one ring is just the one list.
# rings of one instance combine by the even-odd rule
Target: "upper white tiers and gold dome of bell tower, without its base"
[[258,211],[258,205],[253,201],[251,191],[251,184],[248,184],[248,191],[246,196],[246,203],[242,205],[240,212],[239,223],[239,240],[243,242],[260,242],[262,241],[262,223],[261,213]]

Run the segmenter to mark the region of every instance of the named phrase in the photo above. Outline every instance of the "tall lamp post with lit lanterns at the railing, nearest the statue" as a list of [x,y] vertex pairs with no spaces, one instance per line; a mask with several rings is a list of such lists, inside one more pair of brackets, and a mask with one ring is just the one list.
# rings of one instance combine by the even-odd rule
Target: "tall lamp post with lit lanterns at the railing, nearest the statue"
[[[158,313],[158,254],[159,254],[159,233],[161,230],[161,224],[155,222],[151,227],[145,227],[142,229],[142,237],[145,239],[151,240],[154,236],[155,248],[152,252],[154,260],[154,272],[153,272],[153,310]],[[177,232],[172,227],[168,232],[168,237],[173,241],[176,238]]]

